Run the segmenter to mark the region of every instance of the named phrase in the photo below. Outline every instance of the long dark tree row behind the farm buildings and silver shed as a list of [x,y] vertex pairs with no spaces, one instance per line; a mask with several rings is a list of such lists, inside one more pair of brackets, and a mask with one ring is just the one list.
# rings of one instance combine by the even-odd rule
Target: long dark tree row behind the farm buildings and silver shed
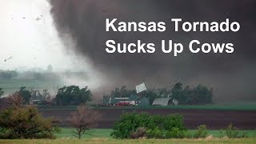
[[[114,98],[129,98],[136,95],[135,90],[127,90],[126,86],[116,87],[106,96]],[[150,104],[155,98],[175,98],[179,104],[207,104],[213,102],[213,89],[207,86],[198,85],[195,87],[183,86],[182,82],[175,83],[171,88],[148,89],[139,94],[140,97],[149,98]]]

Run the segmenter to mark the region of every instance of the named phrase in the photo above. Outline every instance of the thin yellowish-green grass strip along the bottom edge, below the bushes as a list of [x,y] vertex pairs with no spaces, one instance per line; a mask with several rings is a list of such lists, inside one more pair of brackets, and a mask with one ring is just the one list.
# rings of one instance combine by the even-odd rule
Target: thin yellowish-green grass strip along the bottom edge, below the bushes
[[57,139],[22,139],[0,140],[0,143],[255,143],[256,138],[204,138],[204,139],[113,139],[113,138],[57,138]]

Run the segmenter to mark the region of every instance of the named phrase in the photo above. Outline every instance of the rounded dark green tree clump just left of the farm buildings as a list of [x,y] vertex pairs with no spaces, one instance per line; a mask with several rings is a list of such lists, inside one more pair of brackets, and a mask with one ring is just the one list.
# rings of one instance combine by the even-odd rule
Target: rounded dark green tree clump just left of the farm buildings
[[64,86],[58,89],[58,94],[56,95],[57,105],[80,105],[90,101],[92,96],[88,86],[80,89],[79,86]]

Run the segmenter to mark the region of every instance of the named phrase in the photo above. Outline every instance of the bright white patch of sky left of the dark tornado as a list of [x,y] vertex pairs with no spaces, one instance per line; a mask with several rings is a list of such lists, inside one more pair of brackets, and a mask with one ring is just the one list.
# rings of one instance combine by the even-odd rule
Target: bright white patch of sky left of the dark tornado
[[[80,62],[63,48],[58,38],[48,2],[0,2],[0,70],[24,66],[46,69],[50,64],[54,70],[78,68]],[[10,57],[12,59],[4,61]]]

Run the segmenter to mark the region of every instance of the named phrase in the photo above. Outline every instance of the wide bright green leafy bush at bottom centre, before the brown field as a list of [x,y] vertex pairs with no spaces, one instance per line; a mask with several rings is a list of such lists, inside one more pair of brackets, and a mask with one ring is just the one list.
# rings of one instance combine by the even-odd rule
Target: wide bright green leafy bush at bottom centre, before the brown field
[[[171,130],[178,130],[178,132],[174,132],[178,134],[176,136],[173,136],[175,138],[186,137],[186,129],[183,124],[183,117],[181,115],[174,114],[167,116],[151,116],[146,113],[122,114],[118,122],[115,123],[113,129],[114,131],[111,133],[111,136],[113,138],[135,138],[134,135],[136,135],[136,133],[139,133],[138,128],[140,127],[146,129],[147,138],[166,138],[166,134]],[[180,132],[179,130],[182,131]],[[140,131],[138,135],[140,135],[142,131]]]

